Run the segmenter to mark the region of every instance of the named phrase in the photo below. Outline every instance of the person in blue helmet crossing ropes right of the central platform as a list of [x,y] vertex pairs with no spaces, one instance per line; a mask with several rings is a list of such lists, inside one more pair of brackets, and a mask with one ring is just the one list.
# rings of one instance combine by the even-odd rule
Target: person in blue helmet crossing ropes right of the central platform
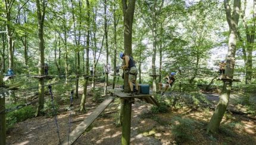
[[[164,79],[166,79],[166,84],[161,82],[158,84],[161,95],[164,95],[164,92],[166,92],[169,87],[171,88],[171,86],[175,82],[175,78],[174,78],[175,74],[176,74],[175,72],[171,72],[169,75],[164,77]],[[163,88],[164,88],[164,91],[162,90]]]

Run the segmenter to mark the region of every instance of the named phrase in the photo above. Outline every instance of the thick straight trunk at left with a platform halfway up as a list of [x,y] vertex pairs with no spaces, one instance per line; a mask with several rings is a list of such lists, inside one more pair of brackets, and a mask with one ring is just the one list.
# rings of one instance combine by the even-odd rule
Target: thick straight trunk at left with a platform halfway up
[[[39,41],[39,62],[38,62],[38,73],[39,76],[43,76],[43,66],[45,65],[45,46],[43,40],[43,22],[45,20],[45,8],[46,2],[45,0],[39,1],[36,0],[36,8],[38,14],[38,41]],[[45,88],[44,88],[44,81],[43,78],[39,79],[39,105],[36,109],[36,116],[39,116],[42,113],[43,104],[44,104],[44,97],[45,97]]]

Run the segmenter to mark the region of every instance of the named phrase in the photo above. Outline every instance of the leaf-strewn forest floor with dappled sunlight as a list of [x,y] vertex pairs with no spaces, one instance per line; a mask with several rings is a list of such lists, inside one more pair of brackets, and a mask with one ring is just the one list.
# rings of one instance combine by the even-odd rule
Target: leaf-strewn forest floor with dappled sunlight
[[[80,90],[82,94],[82,90]],[[80,98],[74,99],[74,109]],[[255,96],[256,97],[256,96]],[[208,94],[208,100],[217,104],[218,95]],[[232,107],[235,96],[230,97]],[[118,99],[115,99],[74,144],[121,144],[121,127],[116,127]],[[86,98],[86,113],[73,111],[71,128],[74,130],[99,104]],[[70,112],[67,104],[58,109],[60,140],[67,138]],[[256,119],[241,114],[225,114],[218,134],[207,134],[206,125],[213,109],[169,107],[167,113],[153,114],[152,105],[136,100],[132,105],[130,144],[256,144]],[[7,134],[7,144],[58,144],[54,117],[34,117],[15,124]]]

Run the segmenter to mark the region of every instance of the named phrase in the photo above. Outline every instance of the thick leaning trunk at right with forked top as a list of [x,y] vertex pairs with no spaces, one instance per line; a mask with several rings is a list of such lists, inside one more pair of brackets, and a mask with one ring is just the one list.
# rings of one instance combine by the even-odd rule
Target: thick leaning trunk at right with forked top
[[[229,49],[227,51],[227,69],[226,75],[229,78],[233,78],[233,71],[235,66],[235,53],[236,53],[236,41],[237,41],[237,27],[239,20],[239,11],[241,8],[241,0],[234,0],[233,14],[231,15],[231,8],[228,0],[224,0],[224,7],[226,10],[227,23],[229,24]],[[211,117],[210,123],[207,127],[207,132],[216,132],[220,126],[220,122],[226,111],[227,104],[229,102],[230,91],[232,89],[232,82],[223,81],[223,90],[220,95],[220,100]]]

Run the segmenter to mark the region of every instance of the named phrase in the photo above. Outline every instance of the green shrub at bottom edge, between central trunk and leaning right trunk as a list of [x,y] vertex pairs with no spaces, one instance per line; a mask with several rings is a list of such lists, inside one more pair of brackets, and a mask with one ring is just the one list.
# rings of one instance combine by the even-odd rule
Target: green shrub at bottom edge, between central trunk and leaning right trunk
[[187,118],[175,117],[171,121],[171,132],[177,143],[193,140],[193,130],[195,123]]

